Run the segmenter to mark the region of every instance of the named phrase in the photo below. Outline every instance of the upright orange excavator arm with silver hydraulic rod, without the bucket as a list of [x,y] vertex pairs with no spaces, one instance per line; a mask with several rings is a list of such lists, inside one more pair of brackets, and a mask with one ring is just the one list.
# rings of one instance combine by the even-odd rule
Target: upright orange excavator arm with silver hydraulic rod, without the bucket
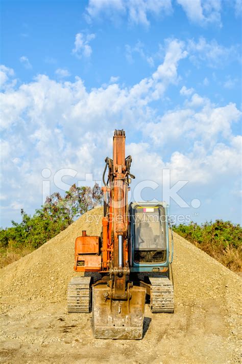
[[[110,260],[109,273],[113,281],[112,297],[127,299],[126,276],[129,275],[128,263],[128,171],[125,159],[125,132],[116,131],[113,137],[113,160],[109,169],[108,188],[110,228],[113,236],[113,254]],[[105,243],[105,245],[107,245]]]

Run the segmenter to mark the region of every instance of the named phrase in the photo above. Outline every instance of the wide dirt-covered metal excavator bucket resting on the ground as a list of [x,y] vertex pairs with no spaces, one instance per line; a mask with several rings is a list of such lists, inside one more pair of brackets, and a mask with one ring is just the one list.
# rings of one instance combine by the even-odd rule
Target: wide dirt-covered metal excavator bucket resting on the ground
[[106,299],[106,285],[93,287],[92,326],[95,338],[142,338],[146,289],[134,286],[130,293],[129,301],[115,301]]

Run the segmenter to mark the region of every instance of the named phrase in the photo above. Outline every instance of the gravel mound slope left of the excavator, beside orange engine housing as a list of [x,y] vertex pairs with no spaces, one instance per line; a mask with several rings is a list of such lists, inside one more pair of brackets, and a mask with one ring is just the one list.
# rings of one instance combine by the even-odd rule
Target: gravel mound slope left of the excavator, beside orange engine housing
[[86,230],[100,235],[102,208],[95,208],[39,249],[4,267],[1,271],[2,296],[7,302],[61,302],[66,297],[67,283],[74,275],[75,240]]

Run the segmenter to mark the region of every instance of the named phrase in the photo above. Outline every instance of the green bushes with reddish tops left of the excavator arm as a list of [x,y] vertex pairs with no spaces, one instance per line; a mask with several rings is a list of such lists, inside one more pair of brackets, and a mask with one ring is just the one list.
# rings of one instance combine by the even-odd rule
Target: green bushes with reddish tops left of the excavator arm
[[20,223],[12,221],[12,227],[0,229],[1,266],[40,247],[101,202],[102,190],[98,184],[93,188],[74,184],[64,197],[58,192],[48,197],[32,217],[21,210]]

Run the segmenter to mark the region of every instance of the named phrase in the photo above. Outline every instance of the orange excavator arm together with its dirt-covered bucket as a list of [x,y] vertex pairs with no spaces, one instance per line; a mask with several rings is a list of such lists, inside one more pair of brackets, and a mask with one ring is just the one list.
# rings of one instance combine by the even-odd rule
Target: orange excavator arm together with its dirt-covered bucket
[[[93,332],[97,338],[141,339],[146,289],[129,281],[128,190],[131,157],[125,158],[125,132],[113,137],[113,159],[106,158],[108,183],[103,187],[103,279],[93,286]],[[105,181],[104,181],[105,182]]]

